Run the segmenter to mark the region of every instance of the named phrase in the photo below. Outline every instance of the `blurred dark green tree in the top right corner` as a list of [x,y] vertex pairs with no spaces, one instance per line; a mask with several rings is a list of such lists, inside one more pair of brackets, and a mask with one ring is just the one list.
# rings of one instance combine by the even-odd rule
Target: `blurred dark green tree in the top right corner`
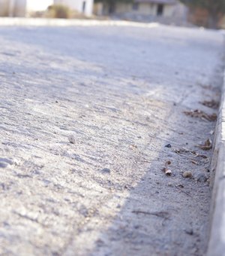
[[217,28],[220,18],[225,14],[225,0],[180,0],[190,8],[203,8],[208,11],[208,27]]

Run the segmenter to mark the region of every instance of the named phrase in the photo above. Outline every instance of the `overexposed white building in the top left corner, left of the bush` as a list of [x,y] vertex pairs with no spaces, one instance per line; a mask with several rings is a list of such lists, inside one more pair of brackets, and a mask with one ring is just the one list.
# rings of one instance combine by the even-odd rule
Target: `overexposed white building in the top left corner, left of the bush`
[[0,0],[0,16],[26,17],[35,11],[46,11],[53,0]]

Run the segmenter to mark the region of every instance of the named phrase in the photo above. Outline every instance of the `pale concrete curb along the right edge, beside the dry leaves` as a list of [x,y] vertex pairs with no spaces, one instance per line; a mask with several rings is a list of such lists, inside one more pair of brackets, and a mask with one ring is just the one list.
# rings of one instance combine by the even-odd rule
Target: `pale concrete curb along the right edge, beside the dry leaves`
[[211,163],[211,230],[207,256],[225,255],[225,72]]

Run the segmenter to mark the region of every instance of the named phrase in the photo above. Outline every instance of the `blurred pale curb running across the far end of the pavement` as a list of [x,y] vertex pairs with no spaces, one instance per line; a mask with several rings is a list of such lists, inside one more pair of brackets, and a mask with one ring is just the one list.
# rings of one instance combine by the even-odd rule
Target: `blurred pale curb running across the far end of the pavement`
[[43,18],[0,18],[0,26],[135,26],[154,28],[158,23],[136,23],[124,20],[65,20]]

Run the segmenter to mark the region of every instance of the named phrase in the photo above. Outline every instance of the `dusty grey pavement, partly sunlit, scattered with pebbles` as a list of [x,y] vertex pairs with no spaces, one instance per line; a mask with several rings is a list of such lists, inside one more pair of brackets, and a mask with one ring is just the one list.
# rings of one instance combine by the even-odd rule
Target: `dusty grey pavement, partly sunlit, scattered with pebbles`
[[217,110],[201,102],[219,99],[223,36],[166,26],[0,35],[0,254],[203,255],[211,149],[196,145],[213,139]]

